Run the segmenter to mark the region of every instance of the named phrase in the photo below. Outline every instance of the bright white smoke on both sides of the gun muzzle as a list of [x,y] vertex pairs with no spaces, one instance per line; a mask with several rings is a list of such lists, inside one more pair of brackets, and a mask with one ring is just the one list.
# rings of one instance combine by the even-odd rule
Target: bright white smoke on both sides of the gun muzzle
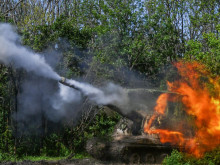
[[[39,76],[59,80],[60,76],[48,65],[44,57],[31,52],[24,46],[19,45],[19,36],[15,33],[13,26],[0,24],[0,61],[5,65],[15,68],[23,68],[28,72],[34,72]],[[87,83],[75,80],[67,80],[68,83],[78,87],[83,95],[97,104],[120,104],[127,101],[126,95],[121,87],[112,83],[98,89]],[[62,104],[80,101],[79,92],[59,85],[59,97],[62,101],[54,103],[56,109],[63,107]]]

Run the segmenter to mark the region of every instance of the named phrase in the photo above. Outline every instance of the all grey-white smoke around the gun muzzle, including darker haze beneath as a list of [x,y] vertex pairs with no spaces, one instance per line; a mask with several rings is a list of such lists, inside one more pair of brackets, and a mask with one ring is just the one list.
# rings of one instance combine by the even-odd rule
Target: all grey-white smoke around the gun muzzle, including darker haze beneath
[[[54,55],[51,54],[51,57]],[[15,69],[26,70],[18,93],[16,119],[20,129],[25,129],[27,125],[33,128],[32,125],[41,124],[42,114],[53,122],[75,120],[84,96],[98,105],[123,106],[128,102],[123,88],[113,83],[96,88],[87,83],[67,80],[80,91],[59,84],[60,76],[49,65],[51,57],[34,53],[22,46],[13,26],[0,24],[0,62]]]

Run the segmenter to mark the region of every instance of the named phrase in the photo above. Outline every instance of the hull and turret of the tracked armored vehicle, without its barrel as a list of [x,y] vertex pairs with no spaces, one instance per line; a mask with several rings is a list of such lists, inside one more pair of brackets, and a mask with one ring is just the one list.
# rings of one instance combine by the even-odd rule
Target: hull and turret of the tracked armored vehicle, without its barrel
[[[112,107],[107,109],[114,110]],[[152,114],[145,111],[134,111],[129,116],[123,117],[115,126],[111,140],[106,141],[99,138],[88,140],[87,152],[94,158],[100,160],[123,162],[128,164],[158,164],[170,155],[178,146],[169,143],[162,144],[158,134],[147,134],[144,132],[144,124]],[[132,120],[131,120],[132,119]],[[146,121],[147,120],[147,121]],[[158,118],[152,129],[161,128],[163,120]]]

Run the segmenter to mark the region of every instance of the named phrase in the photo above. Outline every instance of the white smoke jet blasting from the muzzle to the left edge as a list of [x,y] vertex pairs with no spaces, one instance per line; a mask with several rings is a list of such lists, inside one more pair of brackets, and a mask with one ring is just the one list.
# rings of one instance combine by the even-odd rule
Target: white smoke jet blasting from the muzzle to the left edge
[[5,65],[23,68],[28,72],[52,79],[59,75],[46,63],[44,57],[21,46],[19,36],[9,24],[0,24],[0,61]]

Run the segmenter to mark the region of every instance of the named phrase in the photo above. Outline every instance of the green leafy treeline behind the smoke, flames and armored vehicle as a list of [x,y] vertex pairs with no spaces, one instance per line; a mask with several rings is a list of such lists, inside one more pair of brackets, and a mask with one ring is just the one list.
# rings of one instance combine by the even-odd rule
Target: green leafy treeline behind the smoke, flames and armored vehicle
[[[62,75],[94,84],[105,79],[129,86],[128,71],[134,71],[159,86],[157,77],[179,59],[200,61],[220,73],[219,0],[0,0],[0,20],[14,24],[34,51],[62,52],[56,67]],[[0,68],[0,153],[78,152],[88,137],[111,132],[118,119],[101,114],[89,126],[82,126],[89,120],[84,118],[74,127],[56,123],[59,131],[44,137],[16,136],[22,73]],[[106,125],[109,130],[99,131]]]

